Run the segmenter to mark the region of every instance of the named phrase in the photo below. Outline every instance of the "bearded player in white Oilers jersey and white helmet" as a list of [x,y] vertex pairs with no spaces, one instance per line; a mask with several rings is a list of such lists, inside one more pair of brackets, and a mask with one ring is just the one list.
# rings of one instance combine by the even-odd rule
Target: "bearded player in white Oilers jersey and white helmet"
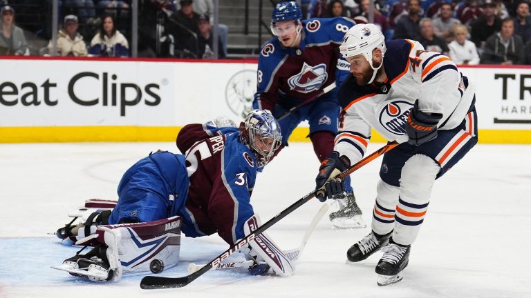
[[339,49],[351,74],[338,93],[343,119],[316,189],[327,197],[342,191],[335,177],[362,159],[371,128],[400,143],[382,161],[372,231],[347,251],[357,262],[382,248],[375,271],[385,286],[402,279],[434,181],[477,143],[474,88],[448,57],[409,39],[386,44],[373,24],[353,26]]

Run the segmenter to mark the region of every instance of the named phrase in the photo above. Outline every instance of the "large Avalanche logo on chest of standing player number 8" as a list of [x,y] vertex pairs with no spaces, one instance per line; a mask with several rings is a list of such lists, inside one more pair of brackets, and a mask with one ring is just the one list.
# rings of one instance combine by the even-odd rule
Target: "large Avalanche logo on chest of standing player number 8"
[[301,93],[309,93],[319,90],[326,79],[328,79],[326,64],[321,63],[317,66],[309,66],[305,62],[302,66],[301,72],[288,79],[288,85],[291,90]]

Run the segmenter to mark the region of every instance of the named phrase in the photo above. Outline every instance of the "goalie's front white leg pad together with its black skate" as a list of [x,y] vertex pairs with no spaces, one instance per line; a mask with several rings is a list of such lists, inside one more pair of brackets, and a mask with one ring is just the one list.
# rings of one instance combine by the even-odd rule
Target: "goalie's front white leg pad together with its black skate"
[[118,281],[131,273],[162,272],[178,263],[180,224],[176,216],[147,223],[97,226],[95,234],[75,243],[94,246],[90,252],[78,252],[52,268],[92,281]]

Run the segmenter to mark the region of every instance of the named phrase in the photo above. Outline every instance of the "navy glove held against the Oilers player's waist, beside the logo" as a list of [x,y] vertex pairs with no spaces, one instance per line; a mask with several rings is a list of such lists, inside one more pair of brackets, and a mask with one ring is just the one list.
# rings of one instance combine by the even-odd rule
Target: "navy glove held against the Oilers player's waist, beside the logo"
[[435,139],[437,137],[437,124],[441,118],[443,118],[443,114],[425,113],[418,110],[417,99],[407,117],[406,132],[409,137],[407,142],[419,146]]

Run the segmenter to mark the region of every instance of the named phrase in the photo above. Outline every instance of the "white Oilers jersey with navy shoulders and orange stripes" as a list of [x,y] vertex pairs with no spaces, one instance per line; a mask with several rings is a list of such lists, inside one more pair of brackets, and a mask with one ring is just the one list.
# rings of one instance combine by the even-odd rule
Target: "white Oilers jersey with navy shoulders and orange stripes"
[[474,88],[448,57],[427,52],[409,39],[390,41],[386,46],[386,81],[357,86],[349,76],[337,95],[344,111],[334,150],[352,163],[363,157],[371,128],[389,141],[407,141],[405,125],[417,99],[422,112],[443,114],[439,130],[456,128],[474,99]]

